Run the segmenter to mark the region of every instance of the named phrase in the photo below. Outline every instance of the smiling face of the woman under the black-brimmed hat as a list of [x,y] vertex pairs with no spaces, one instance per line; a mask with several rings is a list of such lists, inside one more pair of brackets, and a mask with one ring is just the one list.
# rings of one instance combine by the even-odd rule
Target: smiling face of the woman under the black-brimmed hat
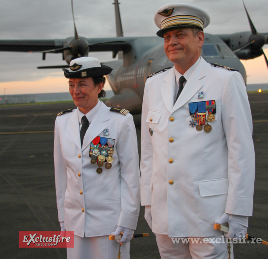
[[69,92],[74,100],[74,104],[84,114],[95,107],[102,87],[103,83],[94,85],[91,77],[69,79]]

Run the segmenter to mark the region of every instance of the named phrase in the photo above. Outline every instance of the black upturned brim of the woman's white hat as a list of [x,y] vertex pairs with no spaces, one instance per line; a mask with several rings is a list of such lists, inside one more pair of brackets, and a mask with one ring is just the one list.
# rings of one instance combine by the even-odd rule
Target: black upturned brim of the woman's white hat
[[[100,77],[104,75],[108,75],[112,72],[112,68],[101,65],[101,67],[92,67],[87,69],[82,69],[75,72],[69,72],[69,69],[63,68],[64,76],[66,78],[84,78],[84,77]],[[82,73],[87,72],[87,73]]]

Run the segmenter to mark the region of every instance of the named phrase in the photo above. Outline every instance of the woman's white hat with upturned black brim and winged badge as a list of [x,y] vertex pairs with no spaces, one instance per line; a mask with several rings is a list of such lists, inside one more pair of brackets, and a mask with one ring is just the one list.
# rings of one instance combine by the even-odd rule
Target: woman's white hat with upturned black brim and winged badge
[[112,72],[112,68],[101,65],[97,58],[81,57],[71,60],[69,69],[63,68],[66,78],[100,77]]

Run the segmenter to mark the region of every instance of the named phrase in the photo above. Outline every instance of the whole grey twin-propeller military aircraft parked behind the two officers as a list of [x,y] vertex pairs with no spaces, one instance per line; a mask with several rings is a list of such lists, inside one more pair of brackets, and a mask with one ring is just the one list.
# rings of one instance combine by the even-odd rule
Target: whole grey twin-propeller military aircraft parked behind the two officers
[[[72,12],[73,11],[73,1]],[[123,37],[118,0],[114,0],[116,31],[115,38],[79,37],[74,22],[74,37],[55,40],[0,40],[0,51],[37,51],[42,53],[62,53],[63,59],[70,60],[88,56],[92,51],[113,51],[118,60],[103,63],[113,68],[108,76],[115,96],[106,101],[108,106],[124,107],[132,114],[141,113],[145,81],[148,75],[173,64],[165,55],[163,39],[155,37]],[[268,43],[268,33],[257,33],[244,5],[251,32],[212,35],[205,33],[203,58],[209,63],[217,63],[239,70],[246,83],[246,71],[239,59],[252,59],[263,55],[262,46]],[[46,66],[38,68],[62,68]],[[65,67],[68,67],[67,65]]]

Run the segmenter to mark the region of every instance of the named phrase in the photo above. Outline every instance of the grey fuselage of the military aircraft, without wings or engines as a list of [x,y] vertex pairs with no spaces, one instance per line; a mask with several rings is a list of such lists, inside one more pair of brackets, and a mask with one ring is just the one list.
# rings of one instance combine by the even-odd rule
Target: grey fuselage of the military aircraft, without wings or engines
[[[114,69],[108,76],[108,80],[115,96],[107,101],[107,105],[123,107],[130,110],[132,114],[141,113],[144,85],[147,76],[164,68],[173,67],[172,62],[168,60],[165,54],[163,39],[148,37],[147,42],[150,41],[152,46],[145,50],[144,53],[137,53],[136,49],[139,49],[139,46],[136,46],[136,49],[133,48],[128,52],[124,52],[123,60],[105,63],[105,65],[111,66]],[[205,33],[202,56],[208,63],[217,63],[239,70],[246,84],[244,66],[220,38]],[[128,64],[126,65],[127,62]]]

